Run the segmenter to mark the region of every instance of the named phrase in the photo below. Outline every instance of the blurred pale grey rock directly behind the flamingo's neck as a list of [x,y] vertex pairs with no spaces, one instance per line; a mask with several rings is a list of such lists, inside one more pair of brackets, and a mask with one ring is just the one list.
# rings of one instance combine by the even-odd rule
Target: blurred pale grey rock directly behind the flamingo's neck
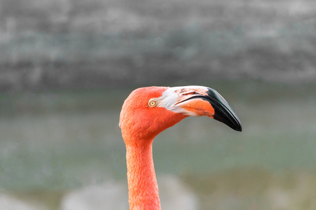
[[[176,176],[158,177],[159,195],[164,210],[198,209],[197,196]],[[126,183],[111,182],[100,186],[87,186],[65,195],[61,210],[129,209]]]

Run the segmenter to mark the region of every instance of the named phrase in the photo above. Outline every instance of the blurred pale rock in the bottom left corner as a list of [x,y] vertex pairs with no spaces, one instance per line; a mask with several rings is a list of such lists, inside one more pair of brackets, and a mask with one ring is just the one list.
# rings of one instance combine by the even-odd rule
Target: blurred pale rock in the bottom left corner
[[46,207],[40,207],[10,195],[0,195],[1,210],[47,210]]

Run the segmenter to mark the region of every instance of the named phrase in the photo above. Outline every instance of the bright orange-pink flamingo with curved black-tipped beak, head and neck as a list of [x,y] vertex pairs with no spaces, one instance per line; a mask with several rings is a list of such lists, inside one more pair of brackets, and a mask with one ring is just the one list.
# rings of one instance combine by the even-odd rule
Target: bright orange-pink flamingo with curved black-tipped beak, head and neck
[[188,116],[208,116],[242,131],[228,102],[210,87],[140,87],[124,101],[119,127],[126,145],[130,209],[161,209],[152,141]]

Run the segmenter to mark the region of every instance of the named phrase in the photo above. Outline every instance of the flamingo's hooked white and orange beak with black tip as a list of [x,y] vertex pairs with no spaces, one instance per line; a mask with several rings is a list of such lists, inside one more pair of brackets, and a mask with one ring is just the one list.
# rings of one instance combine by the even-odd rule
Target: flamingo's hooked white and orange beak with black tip
[[242,131],[239,118],[216,90],[202,86],[187,86],[175,92],[178,93],[178,99],[173,105],[177,112],[187,116],[208,116],[233,130]]

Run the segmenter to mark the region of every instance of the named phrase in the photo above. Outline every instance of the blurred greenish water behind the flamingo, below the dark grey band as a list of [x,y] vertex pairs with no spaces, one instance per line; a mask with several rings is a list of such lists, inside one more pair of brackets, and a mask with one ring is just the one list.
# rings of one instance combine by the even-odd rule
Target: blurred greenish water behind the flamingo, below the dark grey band
[[[235,209],[278,209],[267,202],[279,191],[294,209],[315,209],[316,85],[254,80],[201,85],[228,100],[243,132],[206,117],[186,118],[154,139],[157,175],[180,177],[199,195],[201,209],[225,209],[221,204],[228,204],[228,197]],[[1,191],[35,198],[53,194],[58,202],[70,189],[126,181],[118,123],[129,92],[2,95]]]

